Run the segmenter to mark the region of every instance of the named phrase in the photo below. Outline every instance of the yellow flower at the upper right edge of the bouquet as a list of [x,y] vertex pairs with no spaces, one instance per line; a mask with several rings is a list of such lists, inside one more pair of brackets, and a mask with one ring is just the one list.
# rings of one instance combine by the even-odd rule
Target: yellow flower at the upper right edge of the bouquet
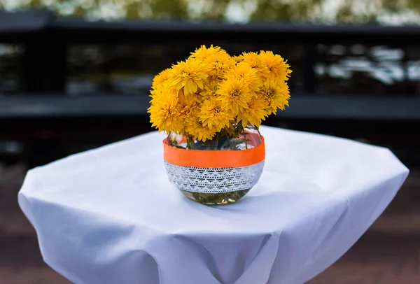
[[269,69],[269,78],[277,80],[288,80],[290,77],[290,65],[280,55],[275,55],[272,51],[260,51],[258,55],[261,62],[267,65]]

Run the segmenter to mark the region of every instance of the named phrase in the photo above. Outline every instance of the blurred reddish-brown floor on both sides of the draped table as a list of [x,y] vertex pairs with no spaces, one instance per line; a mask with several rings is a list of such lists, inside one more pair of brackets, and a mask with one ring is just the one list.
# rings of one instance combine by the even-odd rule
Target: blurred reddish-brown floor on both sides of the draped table
[[[68,284],[43,263],[34,229],[18,208],[24,175],[23,166],[0,164],[0,283]],[[308,284],[356,283],[420,283],[420,169],[412,169],[391,206],[358,243]]]

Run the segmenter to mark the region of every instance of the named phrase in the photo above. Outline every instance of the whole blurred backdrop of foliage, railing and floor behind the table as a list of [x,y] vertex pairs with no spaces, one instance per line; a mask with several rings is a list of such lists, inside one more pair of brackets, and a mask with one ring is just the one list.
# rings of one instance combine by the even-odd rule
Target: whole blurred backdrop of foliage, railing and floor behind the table
[[18,208],[26,171],[152,131],[153,76],[202,44],[288,59],[290,108],[265,125],[382,145],[411,170],[309,283],[420,283],[419,23],[418,0],[0,0],[0,283],[68,283]]

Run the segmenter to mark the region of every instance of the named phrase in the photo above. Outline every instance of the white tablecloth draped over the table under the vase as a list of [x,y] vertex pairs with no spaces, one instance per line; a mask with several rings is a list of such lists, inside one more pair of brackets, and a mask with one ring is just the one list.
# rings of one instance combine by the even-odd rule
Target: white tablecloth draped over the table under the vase
[[29,171],[19,203],[45,262],[76,284],[304,283],[372,225],[408,170],[386,148],[261,132],[265,169],[237,204],[186,199],[155,132]]

